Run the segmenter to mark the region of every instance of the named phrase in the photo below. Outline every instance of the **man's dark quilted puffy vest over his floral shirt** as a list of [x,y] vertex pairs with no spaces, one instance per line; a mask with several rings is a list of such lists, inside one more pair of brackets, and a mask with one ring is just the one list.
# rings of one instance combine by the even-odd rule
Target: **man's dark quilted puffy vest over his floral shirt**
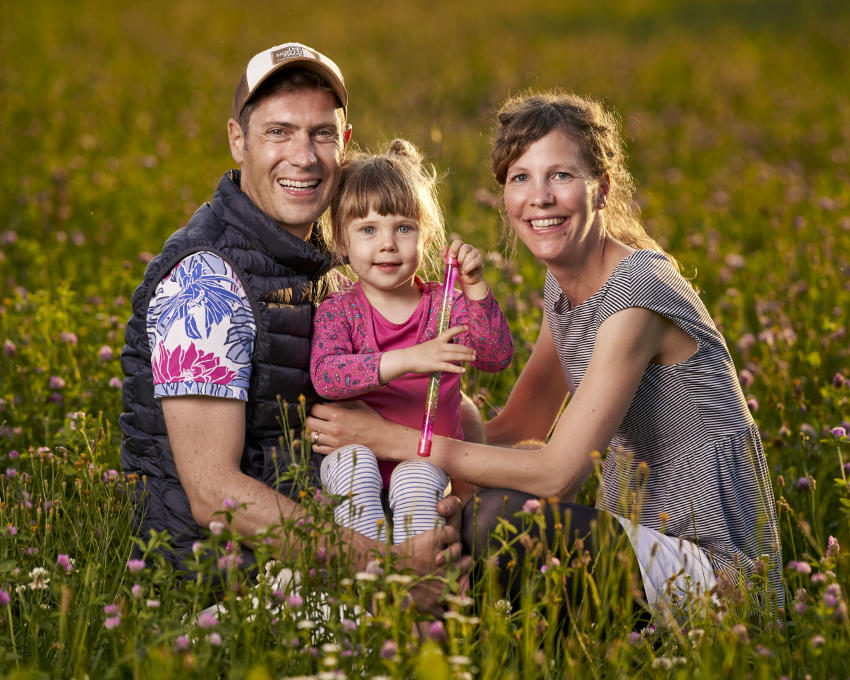
[[[309,375],[314,297],[330,266],[314,243],[296,238],[266,217],[239,188],[239,171],[231,170],[212,202],[202,205],[166,241],[133,294],[133,315],[121,352],[121,466],[140,477],[134,500],[142,536],[147,538],[150,529],[168,530],[178,554],[165,555],[178,568],[203,532],[180,485],[162,407],[153,396],[146,317],[160,280],[187,255],[202,250],[218,254],[233,267],[257,326],[241,469],[286,495],[292,495],[292,484],[279,481],[278,471],[286,470],[291,452],[279,442],[284,434],[281,414],[286,414],[293,438],[299,438],[299,397],[306,398],[308,407],[315,398]],[[316,483],[317,462],[311,461]]]

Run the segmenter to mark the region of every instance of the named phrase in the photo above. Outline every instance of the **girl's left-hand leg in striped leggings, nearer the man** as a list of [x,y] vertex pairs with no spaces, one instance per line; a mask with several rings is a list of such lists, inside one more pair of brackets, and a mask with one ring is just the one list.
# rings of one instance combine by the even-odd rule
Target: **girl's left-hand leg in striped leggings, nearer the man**
[[383,483],[375,454],[365,446],[342,446],[325,456],[319,474],[328,493],[349,496],[334,508],[337,523],[369,538],[385,540],[387,520],[381,506]]

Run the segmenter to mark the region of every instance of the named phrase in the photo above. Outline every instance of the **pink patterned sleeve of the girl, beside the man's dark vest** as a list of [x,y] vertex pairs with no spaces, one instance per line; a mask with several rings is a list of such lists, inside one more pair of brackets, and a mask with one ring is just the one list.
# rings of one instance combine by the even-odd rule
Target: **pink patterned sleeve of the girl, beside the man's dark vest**
[[382,352],[357,353],[354,344],[363,323],[347,313],[344,296],[331,296],[316,310],[313,345],[310,352],[310,378],[320,397],[349,399],[380,387],[378,366]]

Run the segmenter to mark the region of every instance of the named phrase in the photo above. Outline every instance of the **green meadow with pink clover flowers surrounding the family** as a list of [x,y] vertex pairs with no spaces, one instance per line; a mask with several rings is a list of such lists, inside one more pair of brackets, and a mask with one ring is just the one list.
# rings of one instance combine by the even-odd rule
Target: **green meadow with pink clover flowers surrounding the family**
[[[0,3],[0,676],[850,677],[849,35],[838,0]],[[563,87],[620,112],[643,220],[698,286],[762,433],[784,610],[719,593],[641,627],[617,560],[546,553],[517,566],[532,594],[517,610],[450,578],[423,639],[392,565],[354,574],[307,550],[285,565],[297,589],[271,562],[255,585],[227,508],[197,564],[224,573],[217,614],[199,616],[208,582],[175,587],[165,537],[130,560],[129,301],[232,166],[245,63],[289,40],[341,66],[357,145],[423,149],[449,230],[487,253],[517,353],[467,373],[485,415],[536,338],[544,276],[501,249],[493,111]],[[315,544],[329,509],[303,502],[314,520],[279,530]],[[568,575],[588,604],[562,629]]]

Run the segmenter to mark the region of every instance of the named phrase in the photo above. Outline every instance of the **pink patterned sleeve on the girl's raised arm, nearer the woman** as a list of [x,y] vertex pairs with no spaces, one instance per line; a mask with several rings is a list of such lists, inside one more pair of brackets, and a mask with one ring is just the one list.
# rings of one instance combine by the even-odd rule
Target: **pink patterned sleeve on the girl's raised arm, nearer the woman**
[[498,373],[510,366],[514,356],[511,329],[493,291],[483,300],[467,300],[458,294],[452,306],[451,325],[467,327],[460,341],[475,350],[475,368]]

